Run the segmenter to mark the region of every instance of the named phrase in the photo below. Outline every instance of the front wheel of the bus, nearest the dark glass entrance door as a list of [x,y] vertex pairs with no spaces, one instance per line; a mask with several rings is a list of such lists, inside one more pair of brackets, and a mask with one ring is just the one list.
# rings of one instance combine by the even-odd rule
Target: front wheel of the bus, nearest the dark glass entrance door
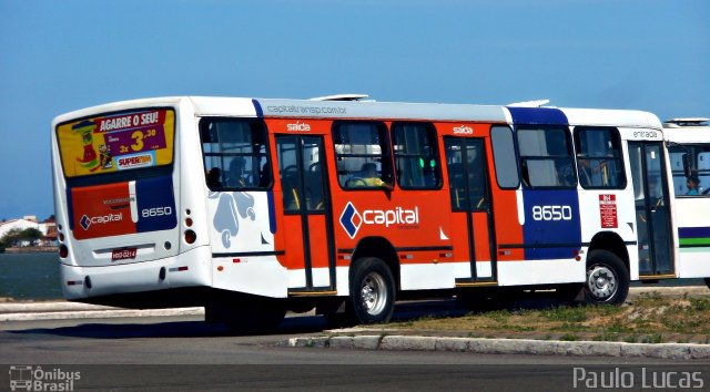
[[587,303],[621,305],[629,295],[629,270],[608,250],[592,250],[587,258]]

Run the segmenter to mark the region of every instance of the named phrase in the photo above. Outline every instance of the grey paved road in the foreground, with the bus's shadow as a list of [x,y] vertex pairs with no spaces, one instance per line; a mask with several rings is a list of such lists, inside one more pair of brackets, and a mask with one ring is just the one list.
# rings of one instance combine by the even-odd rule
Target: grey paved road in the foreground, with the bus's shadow
[[[395,316],[406,319],[435,309],[462,311],[452,301],[422,302],[400,305]],[[653,382],[669,389],[681,378],[701,386],[694,390],[710,390],[710,359],[286,348],[276,342],[322,336],[323,319],[291,314],[274,334],[247,337],[202,320],[182,314],[0,322],[0,390],[9,385],[12,373],[6,369],[12,365],[79,372],[73,386],[93,390],[580,391],[602,375],[627,382],[616,390]],[[601,386],[596,385],[587,390]]]

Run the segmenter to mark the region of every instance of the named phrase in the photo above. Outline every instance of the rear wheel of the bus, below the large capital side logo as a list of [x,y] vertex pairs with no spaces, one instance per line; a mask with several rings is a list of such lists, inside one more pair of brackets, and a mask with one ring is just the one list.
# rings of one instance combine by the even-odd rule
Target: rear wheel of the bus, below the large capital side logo
[[388,322],[395,310],[395,279],[387,265],[368,257],[355,262],[351,272],[347,313],[356,322]]

